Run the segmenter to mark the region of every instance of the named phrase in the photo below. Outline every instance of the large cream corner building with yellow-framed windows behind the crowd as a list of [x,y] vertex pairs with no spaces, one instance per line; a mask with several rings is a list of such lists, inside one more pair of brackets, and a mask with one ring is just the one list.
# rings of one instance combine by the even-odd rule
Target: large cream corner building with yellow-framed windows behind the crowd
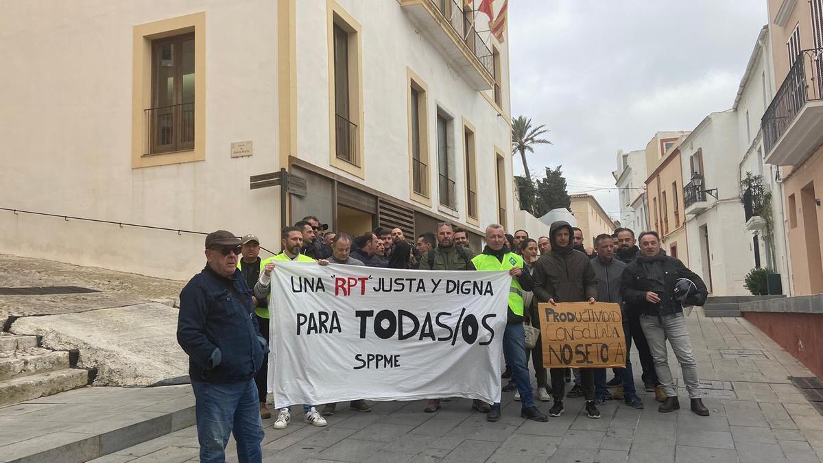
[[307,214],[477,245],[514,227],[488,23],[458,0],[7,3],[0,253],[182,279],[198,232],[279,252]]

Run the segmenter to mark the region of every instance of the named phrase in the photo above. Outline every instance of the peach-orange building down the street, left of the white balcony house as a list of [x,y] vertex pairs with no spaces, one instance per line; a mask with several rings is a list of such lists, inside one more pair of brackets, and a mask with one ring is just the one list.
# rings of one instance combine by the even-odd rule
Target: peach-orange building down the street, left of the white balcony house
[[661,248],[689,265],[686,242],[686,208],[683,206],[683,172],[678,148],[689,132],[658,132],[646,145],[649,227],[658,232]]

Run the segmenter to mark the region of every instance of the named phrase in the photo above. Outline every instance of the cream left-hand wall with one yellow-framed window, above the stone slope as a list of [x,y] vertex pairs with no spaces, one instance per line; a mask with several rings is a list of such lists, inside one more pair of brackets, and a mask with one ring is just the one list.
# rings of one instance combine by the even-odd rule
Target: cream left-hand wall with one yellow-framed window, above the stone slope
[[[206,12],[206,160],[132,169],[133,26],[194,12]],[[0,30],[0,207],[279,241],[277,188],[249,192],[249,175],[278,168],[277,2],[6,2]],[[231,159],[244,140],[253,157]],[[0,253],[182,279],[202,246],[0,212]]]

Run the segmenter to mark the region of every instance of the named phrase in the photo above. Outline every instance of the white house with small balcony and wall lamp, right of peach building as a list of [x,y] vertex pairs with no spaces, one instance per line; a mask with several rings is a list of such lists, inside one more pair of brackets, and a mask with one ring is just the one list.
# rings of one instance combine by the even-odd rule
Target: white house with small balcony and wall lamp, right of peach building
[[[707,116],[681,144],[683,198],[691,268],[715,296],[748,295],[746,274],[770,268],[788,284],[782,194],[772,166],[763,162],[760,118],[774,94],[768,28],[760,30],[732,109]],[[772,192],[773,229],[752,211],[742,186],[760,176]],[[750,192],[751,194],[751,192]]]

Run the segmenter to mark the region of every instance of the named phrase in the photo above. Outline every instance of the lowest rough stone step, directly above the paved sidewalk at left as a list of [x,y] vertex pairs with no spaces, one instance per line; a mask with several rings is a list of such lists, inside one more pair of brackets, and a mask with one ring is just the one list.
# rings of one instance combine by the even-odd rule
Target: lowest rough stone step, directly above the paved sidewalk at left
[[23,400],[69,391],[86,386],[88,381],[89,372],[78,368],[64,368],[0,381],[0,405],[16,404]]

